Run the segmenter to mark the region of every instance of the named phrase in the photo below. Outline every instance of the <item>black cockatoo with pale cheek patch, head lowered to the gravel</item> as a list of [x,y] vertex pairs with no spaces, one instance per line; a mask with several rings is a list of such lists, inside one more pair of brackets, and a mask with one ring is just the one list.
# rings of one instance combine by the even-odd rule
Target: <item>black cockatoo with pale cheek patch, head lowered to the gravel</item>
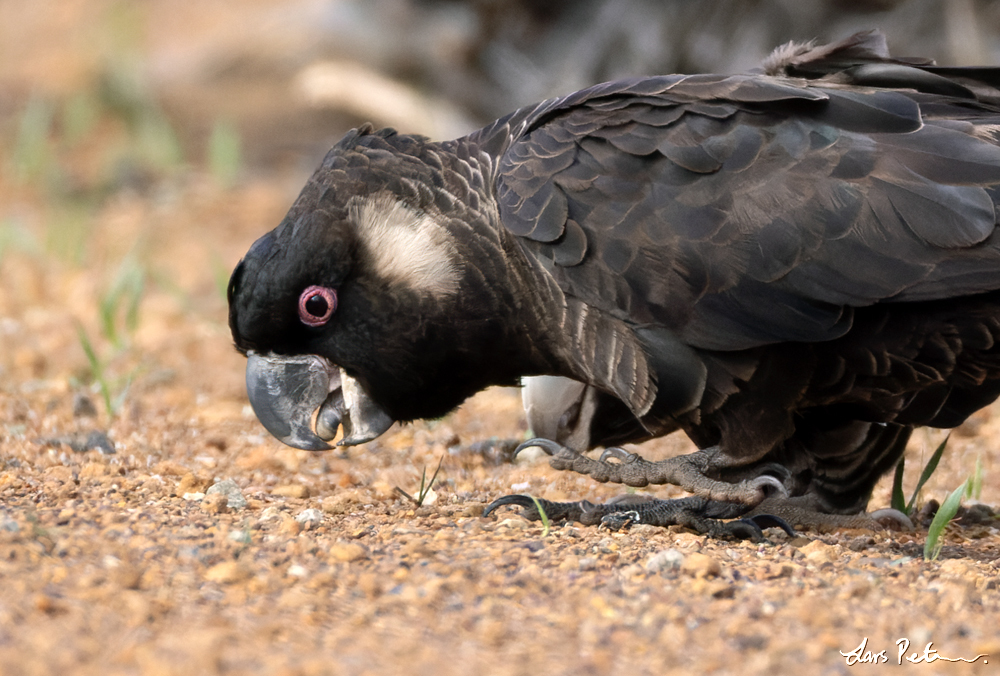
[[[1000,394],[998,83],[865,33],[454,141],[351,132],[233,273],[251,401],[317,449],[561,375],[600,393],[583,446],[680,429],[705,450],[556,466],[736,503],[710,516],[778,484],[863,510],[914,426]],[[312,288],[336,303],[319,324]]]

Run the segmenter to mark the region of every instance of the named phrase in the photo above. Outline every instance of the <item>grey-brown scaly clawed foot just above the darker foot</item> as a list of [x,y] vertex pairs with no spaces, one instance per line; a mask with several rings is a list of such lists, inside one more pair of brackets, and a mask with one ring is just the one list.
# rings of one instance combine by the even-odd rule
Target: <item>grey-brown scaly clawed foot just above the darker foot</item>
[[[599,460],[594,460],[550,439],[532,439],[518,446],[515,455],[530,446],[538,446],[551,455],[549,464],[555,469],[586,474],[601,483],[637,487],[673,484],[707,500],[735,502],[750,507],[769,496],[788,493],[779,479],[767,474],[738,483],[710,478],[709,475],[732,466],[731,460],[723,455],[718,446],[657,462],[650,462],[621,448],[608,448]],[[617,462],[608,462],[611,458]]]

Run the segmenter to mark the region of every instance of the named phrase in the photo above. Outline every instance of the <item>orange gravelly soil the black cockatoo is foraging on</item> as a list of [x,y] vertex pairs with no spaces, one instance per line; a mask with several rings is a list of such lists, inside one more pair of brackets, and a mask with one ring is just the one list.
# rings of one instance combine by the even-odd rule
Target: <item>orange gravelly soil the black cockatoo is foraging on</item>
[[[5,35],[20,37],[11,25]],[[8,44],[28,50],[27,65],[17,80],[5,61],[0,84],[77,63],[46,61],[27,38]],[[67,159],[84,179],[87,153]],[[225,189],[191,170],[73,220],[9,173],[0,174],[0,674],[874,673],[840,654],[866,637],[886,666],[897,639],[909,640],[908,654],[928,642],[946,657],[988,654],[897,667],[908,673],[1000,668],[1000,532],[989,523],[950,526],[928,562],[923,530],[769,531],[772,544],[756,545],[644,525],[546,535],[506,509],[482,518],[510,492],[621,492],[544,460],[473,451],[525,434],[511,390],[365,447],[285,448],[249,411],[217,277],[279,222],[294,197],[286,182]],[[116,346],[99,306],[125,260],[146,284],[134,328],[118,316]],[[113,415],[81,330],[120,400]],[[922,500],[943,500],[978,458],[981,500],[1000,504],[998,410],[952,436]],[[73,450],[93,431],[113,454]],[[914,435],[907,491],[942,437]],[[670,438],[642,452],[687,450]],[[395,490],[415,494],[442,457],[428,504]],[[244,507],[203,496],[223,479]],[[888,502],[884,481],[872,506]]]

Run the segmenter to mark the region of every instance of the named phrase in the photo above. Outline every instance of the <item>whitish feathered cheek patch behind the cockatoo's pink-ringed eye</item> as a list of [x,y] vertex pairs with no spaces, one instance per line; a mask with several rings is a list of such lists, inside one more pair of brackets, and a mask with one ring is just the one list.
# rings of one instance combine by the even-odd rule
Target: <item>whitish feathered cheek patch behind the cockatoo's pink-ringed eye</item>
[[458,291],[455,247],[431,216],[390,196],[359,199],[350,209],[362,258],[378,277],[434,296]]

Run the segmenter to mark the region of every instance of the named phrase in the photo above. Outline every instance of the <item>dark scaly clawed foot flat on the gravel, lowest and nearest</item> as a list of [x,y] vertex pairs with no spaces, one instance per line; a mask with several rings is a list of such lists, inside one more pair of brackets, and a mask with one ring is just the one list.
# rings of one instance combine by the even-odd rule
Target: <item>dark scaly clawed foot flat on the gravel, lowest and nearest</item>
[[735,503],[714,502],[700,497],[660,500],[652,496],[627,495],[603,504],[594,504],[588,500],[551,502],[527,495],[506,495],[490,503],[483,510],[483,516],[488,516],[490,512],[503,505],[518,505],[523,508],[522,516],[537,521],[541,519],[541,514],[538,512],[535,500],[538,500],[537,505],[541,506],[550,521],[576,521],[588,526],[600,525],[611,530],[628,528],[635,523],[652,526],[678,525],[713,538],[766,542],[767,538],[764,537],[762,529],[774,526],[789,535],[795,535],[795,531],[783,519],[766,514],[757,514],[735,521],[720,521],[720,518],[739,516],[747,510],[747,507]]

